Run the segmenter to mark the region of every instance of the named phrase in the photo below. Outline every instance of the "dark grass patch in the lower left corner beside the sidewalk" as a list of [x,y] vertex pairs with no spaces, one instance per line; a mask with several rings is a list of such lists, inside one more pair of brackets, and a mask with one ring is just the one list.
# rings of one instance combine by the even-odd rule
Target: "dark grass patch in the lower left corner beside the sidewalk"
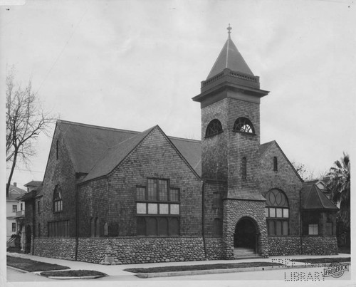
[[28,272],[70,269],[67,266],[45,263],[21,257],[6,256],[6,264]]

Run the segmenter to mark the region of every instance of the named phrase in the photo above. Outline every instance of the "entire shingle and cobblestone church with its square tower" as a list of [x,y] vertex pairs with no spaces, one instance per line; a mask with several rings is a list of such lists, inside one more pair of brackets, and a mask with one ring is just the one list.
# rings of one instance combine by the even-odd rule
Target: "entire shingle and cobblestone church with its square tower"
[[93,263],[337,254],[336,212],[276,141],[228,38],[201,93],[201,140],[58,120],[43,184],[26,194],[31,253]]

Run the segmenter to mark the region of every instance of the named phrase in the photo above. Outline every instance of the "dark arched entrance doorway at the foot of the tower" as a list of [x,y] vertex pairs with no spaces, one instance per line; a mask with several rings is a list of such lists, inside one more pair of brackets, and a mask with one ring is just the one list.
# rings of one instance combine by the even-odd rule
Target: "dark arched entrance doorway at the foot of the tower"
[[253,219],[244,217],[236,224],[234,254],[235,257],[256,256],[258,254],[258,230]]

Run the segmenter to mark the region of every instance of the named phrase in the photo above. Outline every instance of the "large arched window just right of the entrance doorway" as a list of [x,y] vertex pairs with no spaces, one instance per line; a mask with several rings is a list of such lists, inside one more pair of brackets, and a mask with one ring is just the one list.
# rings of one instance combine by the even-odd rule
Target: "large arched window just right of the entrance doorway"
[[266,194],[266,219],[268,235],[289,234],[288,199],[279,189],[271,189]]

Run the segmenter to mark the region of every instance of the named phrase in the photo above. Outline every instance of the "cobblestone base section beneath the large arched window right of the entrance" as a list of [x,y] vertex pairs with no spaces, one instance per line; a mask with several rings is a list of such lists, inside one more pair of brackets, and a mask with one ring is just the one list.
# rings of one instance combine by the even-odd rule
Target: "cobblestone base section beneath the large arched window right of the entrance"
[[268,236],[268,255],[282,256],[300,254],[299,236]]

